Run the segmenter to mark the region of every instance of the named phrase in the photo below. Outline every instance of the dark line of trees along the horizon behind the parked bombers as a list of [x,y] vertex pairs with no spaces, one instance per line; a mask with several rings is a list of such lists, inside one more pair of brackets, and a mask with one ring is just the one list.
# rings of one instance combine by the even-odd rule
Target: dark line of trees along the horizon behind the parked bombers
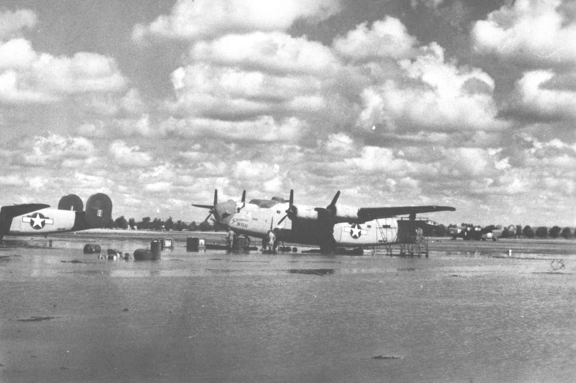
[[[440,224],[439,226],[435,227],[426,227],[424,229],[424,234],[426,236],[448,236],[448,230],[450,227],[455,227],[456,225],[448,225],[445,226],[444,224]],[[474,225],[471,223],[462,223],[462,227],[473,227]],[[159,218],[151,219],[150,217],[143,217],[141,221],[136,221],[134,218],[130,218],[126,220],[124,216],[118,217],[114,220],[113,227],[127,229],[130,228],[131,230],[138,229],[138,230],[155,230],[155,231],[226,231],[228,230],[225,225],[218,223],[218,222],[207,222],[202,221],[200,223],[196,223],[196,221],[192,221],[191,223],[185,223],[181,220],[177,220],[176,222],[172,220],[172,217],[169,217],[167,220],[163,221]],[[520,225],[517,225],[513,232],[509,230],[508,227],[504,227],[502,230],[502,235],[499,238],[518,238],[518,237],[525,237],[525,238],[572,238],[576,233],[573,233],[569,227],[561,228],[559,226],[553,226],[550,229],[545,226],[539,226],[535,229],[530,227],[529,225],[524,226],[522,228]]]

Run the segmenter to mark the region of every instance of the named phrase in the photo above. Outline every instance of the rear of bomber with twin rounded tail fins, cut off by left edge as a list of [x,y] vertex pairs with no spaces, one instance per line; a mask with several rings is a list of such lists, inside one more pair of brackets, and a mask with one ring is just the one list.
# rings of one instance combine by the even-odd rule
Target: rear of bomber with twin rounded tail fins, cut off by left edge
[[47,236],[59,232],[87,230],[107,226],[112,221],[112,201],[104,193],[96,193],[86,201],[68,194],[60,198],[58,209],[46,204],[2,206],[0,239],[5,235]]

